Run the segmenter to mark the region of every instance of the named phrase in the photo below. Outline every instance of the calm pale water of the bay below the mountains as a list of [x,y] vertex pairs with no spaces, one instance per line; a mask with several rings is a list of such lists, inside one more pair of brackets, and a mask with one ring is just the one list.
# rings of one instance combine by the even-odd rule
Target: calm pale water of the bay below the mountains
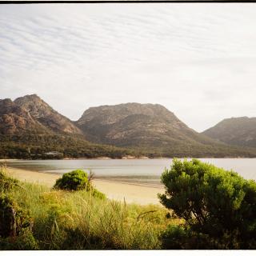
[[[204,158],[226,170],[234,170],[244,178],[256,180],[256,158]],[[8,166],[38,172],[63,174],[70,170],[92,170],[95,178],[122,182],[138,182],[160,186],[160,175],[172,159],[136,160],[14,160]]]

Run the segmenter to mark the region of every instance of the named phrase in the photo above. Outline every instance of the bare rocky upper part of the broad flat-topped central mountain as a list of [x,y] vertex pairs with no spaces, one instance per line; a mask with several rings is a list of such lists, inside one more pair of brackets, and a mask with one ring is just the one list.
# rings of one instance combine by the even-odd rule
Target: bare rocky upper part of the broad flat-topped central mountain
[[198,136],[159,104],[92,107],[82,114],[77,125],[91,142],[114,146],[166,146],[174,140]]

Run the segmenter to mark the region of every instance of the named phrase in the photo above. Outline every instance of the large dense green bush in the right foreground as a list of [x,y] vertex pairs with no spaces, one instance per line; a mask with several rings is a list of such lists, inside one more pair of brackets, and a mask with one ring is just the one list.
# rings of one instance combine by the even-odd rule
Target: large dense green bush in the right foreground
[[160,201],[186,220],[193,236],[206,235],[208,242],[214,239],[215,246],[228,237],[226,244],[219,243],[221,248],[255,249],[255,182],[197,159],[174,159],[161,180],[166,193],[158,195]]

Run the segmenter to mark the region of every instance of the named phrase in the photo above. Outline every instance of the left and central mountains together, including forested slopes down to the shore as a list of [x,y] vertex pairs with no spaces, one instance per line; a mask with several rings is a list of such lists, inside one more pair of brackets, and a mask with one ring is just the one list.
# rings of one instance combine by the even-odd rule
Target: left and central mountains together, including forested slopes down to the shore
[[199,134],[159,104],[95,106],[73,122],[36,94],[0,100],[0,142],[0,157],[7,151],[9,157],[29,158],[52,150],[74,158],[256,156],[256,150]]

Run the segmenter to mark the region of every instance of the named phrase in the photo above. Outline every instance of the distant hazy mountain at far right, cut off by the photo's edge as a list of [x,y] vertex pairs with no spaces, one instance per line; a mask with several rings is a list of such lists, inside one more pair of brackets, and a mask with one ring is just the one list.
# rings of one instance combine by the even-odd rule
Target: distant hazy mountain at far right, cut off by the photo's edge
[[256,118],[226,118],[202,134],[230,145],[256,147]]

